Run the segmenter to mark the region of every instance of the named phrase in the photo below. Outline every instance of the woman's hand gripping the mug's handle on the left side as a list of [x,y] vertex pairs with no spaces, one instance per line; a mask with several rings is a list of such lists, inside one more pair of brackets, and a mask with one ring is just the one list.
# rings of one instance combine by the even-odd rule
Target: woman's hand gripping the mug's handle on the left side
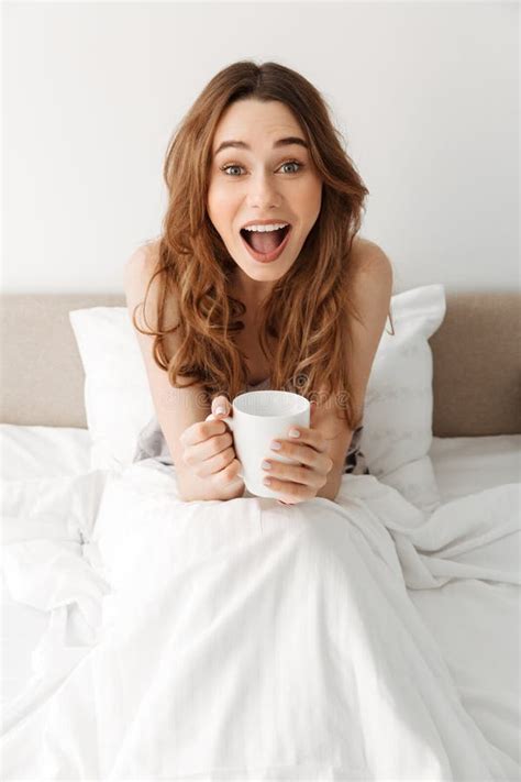
[[[222,408],[222,412],[218,412]],[[220,493],[241,496],[244,483],[239,472],[241,462],[235,455],[233,437],[222,419],[233,409],[225,396],[212,399],[212,412],[204,421],[185,429],[179,438],[186,466],[200,478],[209,478]]]

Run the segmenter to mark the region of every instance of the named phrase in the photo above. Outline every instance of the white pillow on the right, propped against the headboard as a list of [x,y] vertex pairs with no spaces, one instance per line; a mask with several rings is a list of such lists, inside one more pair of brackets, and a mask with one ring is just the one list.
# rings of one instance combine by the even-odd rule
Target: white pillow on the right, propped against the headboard
[[429,338],[445,317],[443,285],[391,298],[387,324],[367,383],[361,450],[372,475],[433,513],[442,503],[429,455],[432,445],[433,361]]

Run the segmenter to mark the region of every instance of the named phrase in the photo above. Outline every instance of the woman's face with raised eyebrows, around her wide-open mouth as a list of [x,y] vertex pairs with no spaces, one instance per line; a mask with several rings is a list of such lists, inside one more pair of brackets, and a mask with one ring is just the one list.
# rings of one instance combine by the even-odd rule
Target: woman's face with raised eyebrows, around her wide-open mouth
[[[289,136],[302,144],[276,145]],[[228,141],[242,144],[220,150]],[[239,286],[252,300],[259,300],[296,262],[321,200],[322,179],[290,110],[279,101],[232,103],[214,134],[207,207],[237,264]],[[254,260],[241,236],[244,224],[256,220],[291,225],[285,250],[270,263]]]

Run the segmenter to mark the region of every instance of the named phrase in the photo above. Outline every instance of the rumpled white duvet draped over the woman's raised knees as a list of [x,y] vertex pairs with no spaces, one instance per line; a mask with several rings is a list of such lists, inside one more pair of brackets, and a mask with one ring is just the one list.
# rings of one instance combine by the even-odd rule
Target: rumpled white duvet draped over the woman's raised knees
[[[107,477],[93,542],[51,590],[37,675],[4,714],[3,779],[520,778],[410,596],[465,581],[519,599],[519,484],[428,517],[369,475],[296,506],[181,503],[151,462]],[[44,601],[48,552],[9,548],[13,591]]]

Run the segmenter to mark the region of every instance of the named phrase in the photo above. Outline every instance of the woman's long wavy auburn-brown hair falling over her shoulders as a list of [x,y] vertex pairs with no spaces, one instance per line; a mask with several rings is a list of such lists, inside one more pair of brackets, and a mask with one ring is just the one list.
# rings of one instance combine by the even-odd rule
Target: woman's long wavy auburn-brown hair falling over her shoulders
[[[228,290],[236,264],[208,216],[207,195],[215,128],[231,103],[246,98],[276,100],[290,109],[323,183],[319,217],[263,309],[259,344],[271,367],[270,388],[318,405],[334,399],[354,430],[362,411],[352,405],[347,316],[358,321],[361,316],[350,295],[351,250],[369,191],[344,150],[326,101],[291,68],[274,62],[233,63],[209,81],[176,128],[163,169],[168,205],[157,261],[141,302],[145,312],[158,276],[156,328],[146,316],[147,330],[138,326],[137,308],[132,320],[141,333],[155,338],[154,360],[168,372],[171,386],[198,384],[207,404],[218,394],[233,400],[245,389],[247,366],[233,337],[245,328],[241,318],[246,307]],[[177,324],[164,322],[168,296],[176,296]],[[178,350],[166,355],[165,337],[177,329]],[[181,378],[190,382],[181,384]]]

